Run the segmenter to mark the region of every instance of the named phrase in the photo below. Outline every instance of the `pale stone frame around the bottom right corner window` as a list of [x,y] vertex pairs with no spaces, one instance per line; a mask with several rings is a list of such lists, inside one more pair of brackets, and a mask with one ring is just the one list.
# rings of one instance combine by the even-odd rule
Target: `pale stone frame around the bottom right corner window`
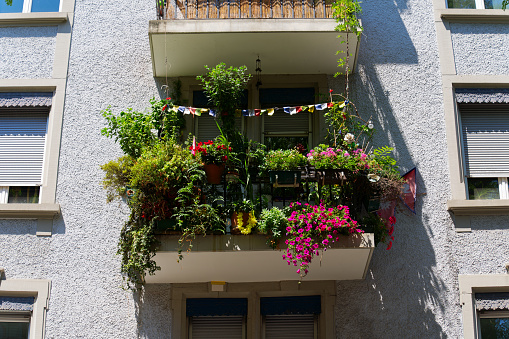
[[459,292],[465,339],[480,339],[479,317],[475,293],[509,292],[509,274],[460,275]]

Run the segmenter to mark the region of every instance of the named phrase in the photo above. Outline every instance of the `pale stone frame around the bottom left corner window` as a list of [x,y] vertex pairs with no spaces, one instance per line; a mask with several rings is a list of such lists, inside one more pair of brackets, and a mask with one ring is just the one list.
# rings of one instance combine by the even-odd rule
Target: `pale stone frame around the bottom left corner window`
[[[51,281],[45,279],[0,280],[0,295],[14,297],[35,297],[30,316],[29,339],[43,339],[46,311],[51,290]],[[1,321],[1,320],[0,320]]]

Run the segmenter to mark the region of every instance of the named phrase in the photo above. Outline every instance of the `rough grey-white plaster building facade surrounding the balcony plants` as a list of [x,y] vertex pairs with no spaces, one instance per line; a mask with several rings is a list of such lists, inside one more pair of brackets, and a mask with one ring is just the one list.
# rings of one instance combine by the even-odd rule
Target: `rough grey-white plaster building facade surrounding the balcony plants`
[[[323,276],[300,283],[271,266],[281,253],[255,243],[236,252],[199,244],[176,264],[164,242],[163,270],[136,293],[121,288],[116,255],[129,209],[107,204],[101,187],[100,165],[122,154],[101,135],[101,111],[144,110],[177,79],[186,105],[198,106],[203,65],[254,74],[257,58],[263,84],[249,83],[249,108],[319,103],[318,93],[344,90],[333,74],[335,36],[346,34],[333,31],[325,3],[169,1],[160,12],[153,2],[61,0],[56,10],[27,1],[13,4],[19,13],[0,7],[0,331],[198,337],[219,326],[200,316],[235,309],[218,337],[235,321],[245,338],[269,337],[274,323],[289,333],[312,323],[316,338],[480,338],[482,319],[503,326],[509,12],[497,1],[361,4],[364,32],[348,38],[352,101],[372,117],[375,143],[394,147],[401,173],[418,170],[416,213],[398,209],[391,250],[346,248],[332,264],[324,256]],[[296,116],[292,136],[318,144],[323,113]],[[238,124],[259,141],[289,123],[248,119]],[[188,117],[186,132],[205,138],[210,126]],[[257,265],[267,276],[251,274]],[[273,311],[301,304],[311,317]]]

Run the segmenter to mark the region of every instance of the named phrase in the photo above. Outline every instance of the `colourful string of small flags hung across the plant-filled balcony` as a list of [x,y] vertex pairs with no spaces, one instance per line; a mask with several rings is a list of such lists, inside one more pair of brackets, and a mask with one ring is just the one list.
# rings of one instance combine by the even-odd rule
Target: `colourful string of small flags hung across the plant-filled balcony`
[[[340,103],[345,104],[345,102]],[[263,114],[273,115],[277,110],[283,110],[283,112],[294,115],[299,112],[308,111],[313,113],[314,111],[323,111],[324,109],[330,108],[334,106],[333,102],[326,102],[323,104],[315,104],[315,105],[304,105],[304,106],[285,106],[285,107],[273,107],[273,108],[254,108],[254,109],[237,109],[235,110],[235,116],[245,116],[245,117],[257,117]],[[188,106],[173,106],[170,110],[174,112],[181,112],[184,115],[191,114],[195,116],[201,116],[202,114],[208,114],[213,117],[216,116],[217,110],[210,108],[196,108],[196,107],[188,107]]]

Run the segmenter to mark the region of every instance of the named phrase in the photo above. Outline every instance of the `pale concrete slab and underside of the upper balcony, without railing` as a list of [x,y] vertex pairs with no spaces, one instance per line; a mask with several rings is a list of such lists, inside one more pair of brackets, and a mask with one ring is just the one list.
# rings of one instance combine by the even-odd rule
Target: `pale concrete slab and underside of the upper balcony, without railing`
[[[149,38],[155,77],[196,76],[204,65],[246,65],[255,74],[334,74],[336,51],[346,48],[333,19],[215,19],[150,21]],[[359,44],[349,33],[350,69]],[[343,53],[344,55],[344,53]]]

